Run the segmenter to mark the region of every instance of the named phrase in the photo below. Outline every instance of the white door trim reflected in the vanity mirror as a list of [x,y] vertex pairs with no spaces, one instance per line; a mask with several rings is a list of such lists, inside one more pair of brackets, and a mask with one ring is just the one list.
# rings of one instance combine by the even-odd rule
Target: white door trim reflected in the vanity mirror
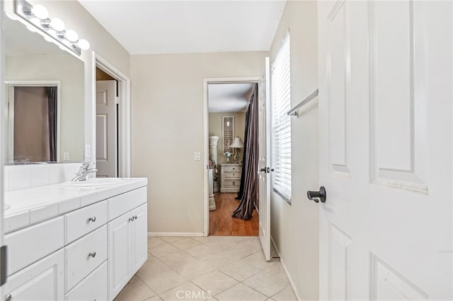
[[[62,81],[5,81],[8,85],[8,163],[14,160],[14,87],[57,87],[57,163],[60,162],[62,151],[61,125],[62,125]],[[12,103],[12,105],[11,105]]]

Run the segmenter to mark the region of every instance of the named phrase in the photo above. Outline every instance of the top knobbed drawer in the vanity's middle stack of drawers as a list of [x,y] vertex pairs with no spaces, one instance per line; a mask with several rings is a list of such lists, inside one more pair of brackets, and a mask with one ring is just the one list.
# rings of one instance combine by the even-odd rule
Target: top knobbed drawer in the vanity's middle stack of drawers
[[107,223],[107,201],[101,201],[91,206],[64,215],[66,225],[65,244],[73,242],[86,233]]

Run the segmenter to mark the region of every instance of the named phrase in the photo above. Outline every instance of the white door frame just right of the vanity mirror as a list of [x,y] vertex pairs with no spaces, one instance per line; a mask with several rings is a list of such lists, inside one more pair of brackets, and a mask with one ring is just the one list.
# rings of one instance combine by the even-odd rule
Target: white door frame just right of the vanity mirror
[[[96,99],[96,67],[108,73],[118,82],[118,96],[120,98],[120,106],[118,115],[118,177],[131,177],[131,126],[130,126],[130,78],[115,68],[106,59],[103,59],[99,54],[93,52],[92,78],[93,78],[93,100]],[[96,101],[92,102],[92,138],[93,145],[92,157],[96,161]]]

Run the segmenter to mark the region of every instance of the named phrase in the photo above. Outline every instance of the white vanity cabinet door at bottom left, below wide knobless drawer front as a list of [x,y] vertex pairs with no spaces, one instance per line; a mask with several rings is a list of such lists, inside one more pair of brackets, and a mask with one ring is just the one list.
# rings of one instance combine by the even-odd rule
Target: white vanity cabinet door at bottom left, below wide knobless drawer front
[[9,276],[5,295],[11,300],[63,300],[64,299],[64,252],[59,250],[21,271]]

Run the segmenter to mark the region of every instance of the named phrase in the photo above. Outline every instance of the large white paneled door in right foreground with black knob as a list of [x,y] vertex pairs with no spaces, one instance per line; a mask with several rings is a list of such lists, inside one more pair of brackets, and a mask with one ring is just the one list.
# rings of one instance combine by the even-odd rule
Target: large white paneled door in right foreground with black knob
[[321,300],[452,300],[452,1],[319,1]]

